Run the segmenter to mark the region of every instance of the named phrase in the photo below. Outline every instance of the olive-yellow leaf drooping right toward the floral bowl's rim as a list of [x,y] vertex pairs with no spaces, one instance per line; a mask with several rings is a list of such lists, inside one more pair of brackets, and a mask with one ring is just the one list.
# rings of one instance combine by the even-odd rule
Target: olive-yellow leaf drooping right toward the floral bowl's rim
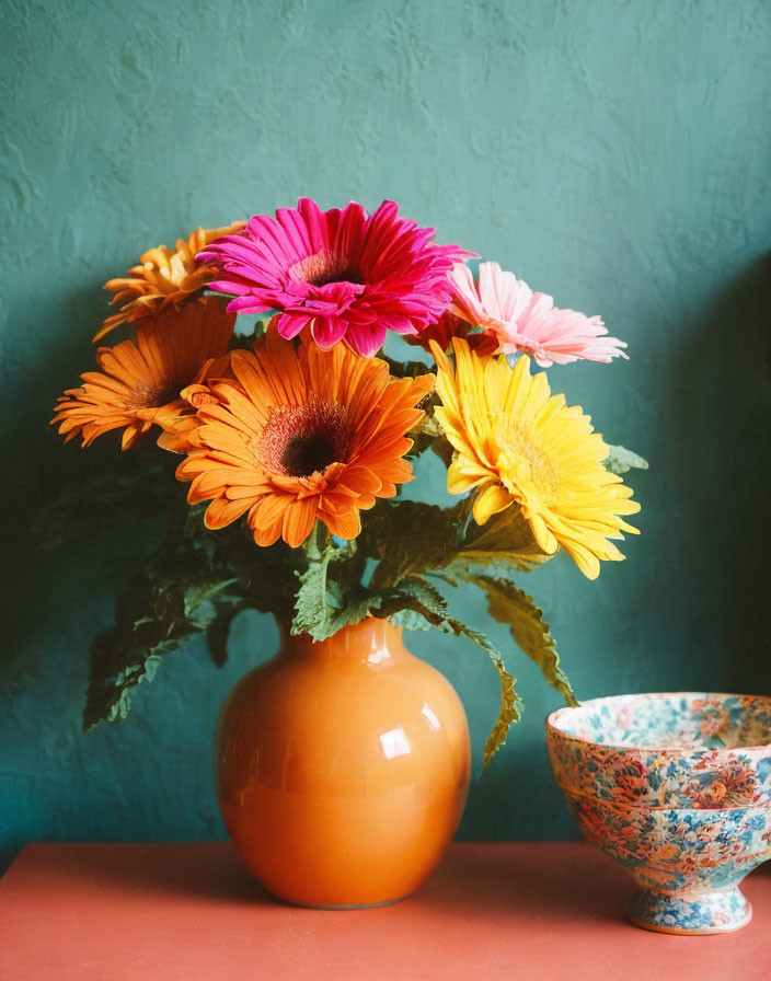
[[532,598],[507,579],[470,575],[468,580],[484,590],[490,615],[509,627],[517,645],[539,666],[549,684],[563,695],[568,705],[577,705],[571,682],[560,667],[560,655],[549,624]]

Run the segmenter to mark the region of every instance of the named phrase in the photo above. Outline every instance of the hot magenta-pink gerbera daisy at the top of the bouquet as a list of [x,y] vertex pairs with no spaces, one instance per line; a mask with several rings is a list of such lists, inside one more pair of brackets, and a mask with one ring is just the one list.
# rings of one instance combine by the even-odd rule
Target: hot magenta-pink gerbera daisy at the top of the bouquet
[[373,215],[352,201],[322,211],[310,198],[276,217],[255,215],[243,232],[198,253],[220,273],[209,289],[235,297],[238,313],[280,311],[278,333],[295,337],[310,324],[324,350],[345,338],[370,357],[388,331],[417,334],[436,323],[450,301],[449,273],[471,257],[437,245],[434,229],[400,218],[395,201]]

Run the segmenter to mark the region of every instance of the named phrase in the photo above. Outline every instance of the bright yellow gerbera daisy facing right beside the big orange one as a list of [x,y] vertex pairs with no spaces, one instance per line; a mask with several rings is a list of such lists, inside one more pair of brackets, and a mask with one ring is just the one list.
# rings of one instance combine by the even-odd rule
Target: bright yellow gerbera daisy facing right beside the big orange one
[[590,579],[599,561],[624,556],[608,539],[636,533],[620,516],[640,510],[631,488],[602,465],[608,446],[578,405],[552,395],[544,372],[530,377],[530,359],[511,368],[505,357],[480,356],[453,341],[456,369],[437,344],[436,416],[456,452],[447,474],[450,494],[477,488],[474,519],[483,524],[516,505],[539,546],[562,547]]

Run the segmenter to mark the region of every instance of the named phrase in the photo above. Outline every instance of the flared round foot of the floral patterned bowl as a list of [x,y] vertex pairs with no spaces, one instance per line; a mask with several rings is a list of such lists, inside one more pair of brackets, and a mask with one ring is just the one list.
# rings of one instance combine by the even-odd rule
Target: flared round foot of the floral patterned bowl
[[752,907],[737,887],[690,899],[644,889],[628,902],[626,915],[644,930],[694,936],[745,926],[752,919]]

